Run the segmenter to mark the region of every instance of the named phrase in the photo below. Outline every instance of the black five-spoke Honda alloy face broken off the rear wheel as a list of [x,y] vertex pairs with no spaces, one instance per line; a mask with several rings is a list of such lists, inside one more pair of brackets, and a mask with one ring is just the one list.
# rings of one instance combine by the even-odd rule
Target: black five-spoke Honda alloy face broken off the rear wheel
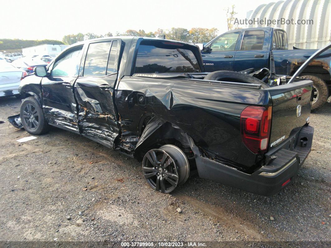
[[177,166],[165,151],[159,149],[148,151],[142,166],[143,174],[154,190],[170,193],[176,188],[178,184]]

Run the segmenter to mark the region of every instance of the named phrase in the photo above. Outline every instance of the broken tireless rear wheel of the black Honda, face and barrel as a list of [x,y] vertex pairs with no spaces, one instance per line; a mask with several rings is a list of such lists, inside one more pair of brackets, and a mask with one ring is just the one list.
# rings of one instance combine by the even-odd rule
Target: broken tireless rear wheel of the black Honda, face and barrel
[[190,173],[188,160],[178,147],[164,145],[148,151],[142,163],[147,183],[156,191],[170,193],[183,184]]

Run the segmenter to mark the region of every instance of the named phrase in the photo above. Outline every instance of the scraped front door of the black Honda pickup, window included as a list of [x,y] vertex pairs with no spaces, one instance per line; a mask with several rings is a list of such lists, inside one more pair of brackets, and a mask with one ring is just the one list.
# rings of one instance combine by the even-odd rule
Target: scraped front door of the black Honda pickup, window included
[[77,105],[73,95],[83,46],[60,55],[49,67],[50,75],[41,80],[43,109],[50,124],[79,133]]

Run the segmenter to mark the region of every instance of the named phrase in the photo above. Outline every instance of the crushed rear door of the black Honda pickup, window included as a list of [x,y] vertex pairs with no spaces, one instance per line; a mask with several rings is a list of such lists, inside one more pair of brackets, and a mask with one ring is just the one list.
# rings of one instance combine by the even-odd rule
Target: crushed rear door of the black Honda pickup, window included
[[119,133],[113,97],[120,47],[120,39],[90,43],[74,86],[82,135],[110,148]]

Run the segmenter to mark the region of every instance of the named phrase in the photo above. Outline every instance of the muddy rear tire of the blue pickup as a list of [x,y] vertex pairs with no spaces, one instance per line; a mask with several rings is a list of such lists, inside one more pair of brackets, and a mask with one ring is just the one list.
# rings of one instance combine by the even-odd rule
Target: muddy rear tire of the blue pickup
[[329,89],[325,81],[318,76],[313,75],[301,75],[305,79],[313,81],[314,86],[314,99],[311,105],[312,110],[317,110],[322,107],[329,97]]

